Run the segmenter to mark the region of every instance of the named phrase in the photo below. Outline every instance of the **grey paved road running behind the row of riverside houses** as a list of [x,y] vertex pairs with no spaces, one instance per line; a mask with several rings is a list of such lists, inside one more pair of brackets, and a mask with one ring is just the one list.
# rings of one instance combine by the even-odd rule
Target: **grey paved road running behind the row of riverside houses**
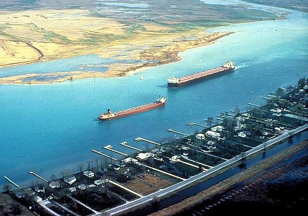
[[[291,133],[296,134],[298,132],[304,131],[307,128],[308,128],[308,124],[305,124],[300,128],[292,130]],[[290,137],[290,131],[285,132],[284,134],[281,134],[280,136],[275,137],[271,140],[268,140],[268,141],[262,143],[261,145],[257,146],[256,148],[247,151],[246,156],[252,155],[252,154],[254,154],[254,153],[256,153],[260,150],[263,150],[264,145],[265,145],[265,147],[269,147],[269,146],[271,146],[271,145],[273,145],[273,144],[275,144],[275,143],[277,143],[277,142],[279,142],[279,141],[281,141],[281,140],[283,140],[287,137]],[[123,214],[123,211],[128,211],[130,209],[136,208],[136,206],[140,206],[140,207],[145,206],[147,204],[150,204],[153,200],[153,197],[155,197],[155,196],[162,197],[162,196],[165,196],[167,194],[171,195],[172,193],[174,193],[173,191],[179,190],[179,189],[183,188],[184,186],[186,186],[187,184],[194,183],[194,182],[198,181],[199,179],[204,178],[205,176],[207,176],[211,173],[214,173],[214,172],[218,171],[219,169],[222,169],[226,166],[229,166],[230,164],[236,163],[237,161],[239,161],[241,159],[242,159],[242,157],[240,155],[237,155],[234,158],[229,159],[229,160],[225,161],[224,163],[222,163],[222,164],[220,164],[216,167],[213,167],[213,168],[209,169],[208,171],[206,171],[204,173],[199,173],[195,176],[188,178],[186,181],[177,183],[175,185],[171,185],[170,187],[167,187],[165,189],[161,189],[161,190],[156,191],[154,193],[145,195],[145,196],[139,198],[138,200],[133,200],[133,201],[127,202],[127,203],[125,203],[121,206],[117,206],[117,207],[114,207],[112,209],[103,211],[102,214],[120,215],[120,214]]]

